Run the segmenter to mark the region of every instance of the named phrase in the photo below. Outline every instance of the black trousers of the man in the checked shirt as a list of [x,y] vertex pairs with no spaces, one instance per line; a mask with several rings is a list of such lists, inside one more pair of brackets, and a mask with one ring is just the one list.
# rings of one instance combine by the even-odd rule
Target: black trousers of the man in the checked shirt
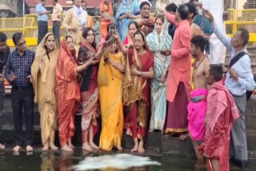
[[[32,85],[18,89],[13,87],[11,91],[11,101],[14,114],[15,145],[32,145],[33,138],[33,109],[34,90]],[[26,132],[23,135],[22,129],[22,109],[24,108]]]

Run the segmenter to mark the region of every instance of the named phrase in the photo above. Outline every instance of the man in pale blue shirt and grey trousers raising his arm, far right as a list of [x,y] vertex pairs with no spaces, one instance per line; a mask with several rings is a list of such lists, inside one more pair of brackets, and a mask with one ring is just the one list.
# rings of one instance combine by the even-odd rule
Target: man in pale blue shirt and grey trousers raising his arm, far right
[[[239,29],[232,38],[229,38],[218,28],[210,11],[204,11],[206,18],[212,23],[214,34],[219,38],[226,49],[230,51],[230,69],[226,74],[225,85],[234,97],[240,117],[234,122],[231,130],[230,157],[235,164],[246,167],[248,151],[246,141],[246,91],[253,91],[256,87],[251,70],[250,57],[246,50],[249,41],[249,32]],[[242,55],[241,55],[242,53]],[[238,59],[238,56],[241,58]],[[234,62],[236,60],[236,62]]]

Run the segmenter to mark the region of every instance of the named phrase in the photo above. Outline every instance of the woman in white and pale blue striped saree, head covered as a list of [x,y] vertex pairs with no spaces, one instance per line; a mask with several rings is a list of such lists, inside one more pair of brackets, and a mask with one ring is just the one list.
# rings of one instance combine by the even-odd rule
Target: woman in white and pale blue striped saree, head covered
[[154,53],[154,78],[151,79],[150,132],[162,130],[166,120],[166,75],[170,64],[172,38],[168,34],[168,22],[163,15],[155,19],[154,31],[146,37],[150,50]]

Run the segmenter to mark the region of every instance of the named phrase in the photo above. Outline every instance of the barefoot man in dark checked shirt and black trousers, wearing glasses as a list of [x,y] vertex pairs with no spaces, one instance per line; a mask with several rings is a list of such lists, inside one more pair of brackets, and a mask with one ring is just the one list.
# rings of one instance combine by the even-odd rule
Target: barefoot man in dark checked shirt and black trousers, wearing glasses
[[[26,145],[26,151],[31,152],[33,148],[33,109],[34,90],[30,82],[31,66],[34,61],[34,51],[26,49],[26,40],[21,33],[13,35],[16,46],[6,62],[5,77],[12,85],[11,101],[14,115],[14,152],[18,152],[22,145]],[[22,130],[22,108],[24,108],[26,132],[23,136]]]

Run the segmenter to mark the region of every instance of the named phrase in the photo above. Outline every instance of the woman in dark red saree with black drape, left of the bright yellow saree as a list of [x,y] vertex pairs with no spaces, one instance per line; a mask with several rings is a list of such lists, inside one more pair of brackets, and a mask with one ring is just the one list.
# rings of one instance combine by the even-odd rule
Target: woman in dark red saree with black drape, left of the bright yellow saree
[[82,101],[82,149],[92,151],[99,149],[94,144],[94,136],[98,131],[98,62],[104,50],[96,51],[94,30],[86,27],[82,32],[83,41],[78,52],[78,64],[90,61],[85,72],[79,74]]

